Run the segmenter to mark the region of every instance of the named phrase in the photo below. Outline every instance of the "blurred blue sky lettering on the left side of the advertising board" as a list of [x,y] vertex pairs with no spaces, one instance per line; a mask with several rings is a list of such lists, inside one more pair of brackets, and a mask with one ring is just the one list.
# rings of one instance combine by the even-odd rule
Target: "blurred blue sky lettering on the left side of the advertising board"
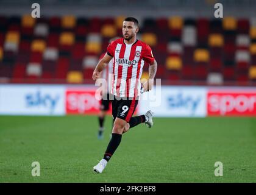
[[46,108],[50,113],[54,112],[59,99],[59,94],[55,94],[55,96],[53,96],[52,94],[42,93],[41,91],[27,93],[25,95],[26,107]]

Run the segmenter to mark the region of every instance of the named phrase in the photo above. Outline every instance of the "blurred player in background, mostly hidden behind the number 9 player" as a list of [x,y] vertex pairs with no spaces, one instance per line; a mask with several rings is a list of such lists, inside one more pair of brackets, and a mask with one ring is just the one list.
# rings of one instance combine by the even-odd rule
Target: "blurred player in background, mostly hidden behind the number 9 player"
[[[109,43],[117,40],[119,37],[112,38]],[[99,60],[103,59],[105,53],[101,54]],[[113,99],[113,94],[110,93],[113,75],[113,60],[110,60],[108,65],[102,70],[101,78],[107,81],[107,93],[102,94],[101,105],[99,107],[99,130],[98,139],[102,140],[104,128],[105,115],[110,108],[111,99]],[[112,98],[111,98],[112,97]]]

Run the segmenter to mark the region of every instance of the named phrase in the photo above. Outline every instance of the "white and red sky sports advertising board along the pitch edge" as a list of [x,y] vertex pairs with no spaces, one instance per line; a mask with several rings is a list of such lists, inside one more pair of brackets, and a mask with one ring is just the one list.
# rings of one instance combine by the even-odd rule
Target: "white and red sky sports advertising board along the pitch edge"
[[[95,115],[95,94],[94,85],[0,85],[0,115]],[[157,117],[256,116],[256,88],[155,87],[136,114],[149,109]]]

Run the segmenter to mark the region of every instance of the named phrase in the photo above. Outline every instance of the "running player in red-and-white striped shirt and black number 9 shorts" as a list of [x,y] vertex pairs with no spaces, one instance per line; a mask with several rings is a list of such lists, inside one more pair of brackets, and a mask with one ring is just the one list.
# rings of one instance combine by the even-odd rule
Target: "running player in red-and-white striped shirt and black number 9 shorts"
[[157,62],[154,59],[151,48],[148,44],[137,40],[139,30],[136,18],[126,18],[123,21],[123,38],[112,41],[107,48],[107,53],[99,61],[93,72],[93,80],[97,80],[101,71],[113,58],[113,82],[112,94],[112,115],[113,129],[112,138],[108,143],[104,157],[93,171],[101,173],[107,165],[119,143],[122,134],[138,124],[145,123],[152,127],[152,112],[149,110],[145,115],[134,116],[133,112],[138,104],[138,95],[141,90],[140,78],[144,63],[149,64],[149,80],[143,83],[144,91],[149,91],[154,85],[154,77],[157,72]]

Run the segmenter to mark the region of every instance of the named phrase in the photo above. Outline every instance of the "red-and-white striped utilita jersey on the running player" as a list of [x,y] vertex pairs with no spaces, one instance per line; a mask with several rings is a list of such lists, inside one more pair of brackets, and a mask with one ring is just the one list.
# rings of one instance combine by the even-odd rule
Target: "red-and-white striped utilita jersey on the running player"
[[113,57],[111,93],[119,97],[137,97],[144,63],[154,62],[151,48],[140,40],[126,44],[124,38],[119,38],[108,45],[107,54]]

